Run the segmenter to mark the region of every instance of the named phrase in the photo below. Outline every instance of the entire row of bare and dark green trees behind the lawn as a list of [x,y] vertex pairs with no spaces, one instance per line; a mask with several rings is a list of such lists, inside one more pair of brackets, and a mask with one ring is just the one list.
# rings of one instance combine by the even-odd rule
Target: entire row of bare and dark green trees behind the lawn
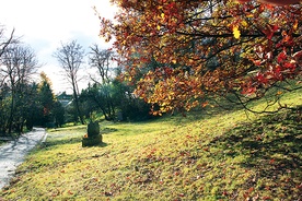
[[[22,133],[33,127],[61,127],[66,122],[86,123],[92,114],[106,120],[143,120],[150,118],[149,105],[133,95],[133,85],[119,78],[123,67],[115,63],[116,54],[90,47],[85,54],[77,40],[61,44],[54,54],[72,88],[71,104],[63,106],[42,72],[34,50],[0,28],[0,134]],[[88,57],[86,57],[88,56]],[[79,91],[79,71],[84,60],[91,71],[90,84]],[[100,116],[100,115],[98,115]]]

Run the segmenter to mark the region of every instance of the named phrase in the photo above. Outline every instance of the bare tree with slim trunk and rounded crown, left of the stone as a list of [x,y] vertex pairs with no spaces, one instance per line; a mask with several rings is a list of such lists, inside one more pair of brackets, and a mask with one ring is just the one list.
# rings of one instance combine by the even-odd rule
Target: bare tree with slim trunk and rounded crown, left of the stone
[[61,47],[57,49],[54,57],[58,60],[61,68],[66,73],[66,78],[72,86],[72,94],[74,100],[74,107],[77,109],[77,116],[80,118],[82,125],[84,125],[84,119],[81,114],[80,103],[79,103],[79,70],[83,63],[84,50],[83,47],[72,40],[68,44],[61,44]]

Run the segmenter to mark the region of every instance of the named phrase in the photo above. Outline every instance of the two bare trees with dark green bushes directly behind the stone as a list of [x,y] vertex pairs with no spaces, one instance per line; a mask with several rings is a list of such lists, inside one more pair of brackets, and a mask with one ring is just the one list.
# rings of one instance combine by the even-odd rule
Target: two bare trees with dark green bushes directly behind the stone
[[67,109],[68,120],[84,123],[91,115],[102,114],[106,120],[143,120],[149,115],[149,105],[133,96],[133,86],[121,81],[119,74],[123,67],[115,66],[116,54],[109,49],[101,49],[97,45],[90,47],[88,54],[90,84],[79,92],[79,70],[85,59],[83,47],[77,40],[61,44],[54,57],[66,72],[69,81],[73,104]]

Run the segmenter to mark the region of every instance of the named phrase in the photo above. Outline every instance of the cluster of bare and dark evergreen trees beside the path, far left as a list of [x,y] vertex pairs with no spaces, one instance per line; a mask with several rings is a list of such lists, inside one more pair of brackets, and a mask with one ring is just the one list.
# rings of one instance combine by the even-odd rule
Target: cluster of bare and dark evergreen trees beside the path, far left
[[56,102],[50,81],[42,73],[40,83],[33,82],[39,68],[34,50],[14,36],[5,37],[0,28],[0,133],[22,133],[34,126],[63,122],[61,105]]

